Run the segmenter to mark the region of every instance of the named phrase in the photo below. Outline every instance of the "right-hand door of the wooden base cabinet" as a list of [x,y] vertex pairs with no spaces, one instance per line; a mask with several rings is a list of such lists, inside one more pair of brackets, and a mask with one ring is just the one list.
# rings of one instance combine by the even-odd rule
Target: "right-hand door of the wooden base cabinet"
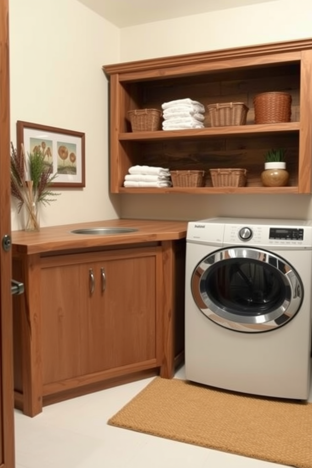
[[[156,362],[160,248],[110,252],[81,265],[85,292],[83,373]],[[90,292],[90,270],[94,291]],[[93,281],[93,280],[92,280]],[[91,283],[92,283],[91,281]],[[81,284],[83,281],[81,281]]]

